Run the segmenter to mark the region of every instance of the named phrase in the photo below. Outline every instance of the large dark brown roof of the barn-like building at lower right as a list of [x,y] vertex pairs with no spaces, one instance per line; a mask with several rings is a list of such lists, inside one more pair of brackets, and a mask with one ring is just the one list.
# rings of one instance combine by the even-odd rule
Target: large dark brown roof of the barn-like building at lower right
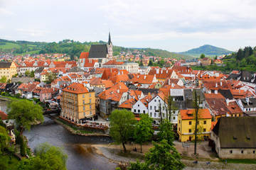
[[256,148],[256,117],[220,117],[213,132],[220,148]]

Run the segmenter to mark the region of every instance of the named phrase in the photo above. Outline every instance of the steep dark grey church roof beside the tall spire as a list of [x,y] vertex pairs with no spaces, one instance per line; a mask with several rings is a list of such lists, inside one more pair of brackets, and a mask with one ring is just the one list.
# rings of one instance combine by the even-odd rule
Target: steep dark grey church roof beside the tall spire
[[107,58],[107,45],[92,45],[88,58]]

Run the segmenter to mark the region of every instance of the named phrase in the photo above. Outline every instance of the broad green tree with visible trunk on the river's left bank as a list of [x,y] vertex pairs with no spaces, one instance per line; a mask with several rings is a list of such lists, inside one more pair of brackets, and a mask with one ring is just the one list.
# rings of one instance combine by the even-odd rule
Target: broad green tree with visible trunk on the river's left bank
[[32,101],[14,100],[7,105],[8,117],[15,119],[21,125],[21,136],[24,128],[30,130],[31,124],[36,121],[43,121],[43,108]]

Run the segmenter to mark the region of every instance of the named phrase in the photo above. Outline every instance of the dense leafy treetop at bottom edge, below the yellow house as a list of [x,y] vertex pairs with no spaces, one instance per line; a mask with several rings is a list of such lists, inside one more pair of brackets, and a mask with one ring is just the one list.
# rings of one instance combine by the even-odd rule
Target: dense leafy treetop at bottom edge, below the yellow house
[[162,140],[160,144],[153,142],[154,147],[146,153],[145,163],[131,163],[129,170],[150,169],[150,170],[172,170],[183,169],[185,165],[181,162],[181,155],[174,146]]

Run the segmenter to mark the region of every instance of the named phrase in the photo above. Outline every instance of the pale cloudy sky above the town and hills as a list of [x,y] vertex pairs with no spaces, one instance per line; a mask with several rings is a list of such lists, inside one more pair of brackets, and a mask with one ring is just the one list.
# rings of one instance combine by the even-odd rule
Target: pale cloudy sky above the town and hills
[[255,0],[0,0],[0,38],[183,52],[256,46]]

